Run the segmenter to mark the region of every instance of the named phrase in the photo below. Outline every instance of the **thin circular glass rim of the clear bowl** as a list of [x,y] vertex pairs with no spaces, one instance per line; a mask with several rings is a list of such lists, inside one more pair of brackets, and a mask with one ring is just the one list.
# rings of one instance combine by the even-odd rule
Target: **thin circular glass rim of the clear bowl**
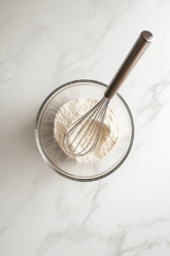
[[[42,158],[43,160],[45,160],[45,162],[48,164],[48,166],[50,166],[54,172],[57,172],[59,175],[63,176],[63,177],[66,177],[66,178],[69,178],[71,180],[75,180],[75,181],[79,181],[79,182],[89,182],[89,181],[94,181],[94,180],[99,180],[103,177],[106,177],[108,175],[110,175],[112,172],[115,172],[120,166],[122,166],[122,163],[127,159],[127,155],[130,153],[130,150],[133,146],[133,138],[134,138],[134,124],[133,124],[133,115],[130,111],[130,109],[128,108],[127,106],[127,102],[125,102],[125,100],[122,98],[122,96],[119,94],[119,93],[116,93],[116,96],[119,97],[119,99],[122,101],[122,103],[124,104],[125,108],[127,108],[127,113],[129,115],[129,118],[130,118],[130,121],[131,121],[131,127],[132,127],[132,135],[131,135],[131,140],[130,140],[130,143],[129,143],[129,146],[127,148],[127,152],[126,154],[124,155],[124,157],[122,158],[122,160],[119,162],[119,164],[117,166],[115,166],[113,169],[111,169],[110,172],[107,172],[103,175],[100,175],[99,177],[91,177],[91,178],[80,178],[80,177],[71,177],[69,175],[66,175],[65,173],[63,173],[63,170],[59,169],[59,167],[56,167],[54,165],[54,163],[48,158],[48,155],[45,153],[43,147],[42,147],[42,143],[39,139],[39,134],[38,134],[38,124],[39,124],[39,121],[41,120],[40,119],[40,116],[41,116],[41,113],[42,113],[42,109],[43,107],[45,106],[46,102],[48,102],[48,99],[54,95],[54,93],[70,84],[78,84],[78,83],[93,83],[93,84],[99,84],[99,85],[102,85],[104,87],[108,87],[108,85],[104,84],[104,83],[101,83],[99,81],[95,81],[95,80],[89,80],[89,79],[79,79],[79,80],[73,80],[71,82],[68,82],[68,83],[65,83],[65,84],[62,84],[60,85],[59,87],[57,87],[55,90],[53,90],[47,97],[46,99],[42,102],[42,105],[41,107],[39,108],[38,110],[38,113],[37,113],[37,119],[36,119],[36,124],[35,124],[35,136],[36,136],[36,142],[37,142],[37,148],[40,152],[40,154],[42,155]],[[64,171],[65,172],[65,171]]]

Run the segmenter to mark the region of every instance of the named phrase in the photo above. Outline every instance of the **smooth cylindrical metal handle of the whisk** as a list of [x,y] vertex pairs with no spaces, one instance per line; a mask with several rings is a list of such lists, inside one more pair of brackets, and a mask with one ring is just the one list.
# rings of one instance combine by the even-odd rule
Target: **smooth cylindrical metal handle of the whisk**
[[144,53],[144,50],[148,45],[154,41],[152,33],[148,31],[143,31],[140,33],[139,38],[133,45],[133,48],[128,53],[126,59],[123,61],[122,66],[118,69],[115,77],[111,80],[108,88],[105,90],[105,97],[111,99],[116,90],[122,84],[127,74],[130,73],[136,62],[139,60],[140,56]]

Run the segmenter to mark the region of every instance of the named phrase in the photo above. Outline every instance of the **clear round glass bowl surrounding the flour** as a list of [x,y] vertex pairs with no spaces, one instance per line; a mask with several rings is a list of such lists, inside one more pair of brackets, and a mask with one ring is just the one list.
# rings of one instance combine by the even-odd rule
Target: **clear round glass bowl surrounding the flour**
[[66,102],[77,98],[94,98],[100,100],[104,96],[107,85],[93,80],[77,80],[59,86],[42,103],[37,113],[36,140],[37,147],[55,172],[77,181],[93,181],[105,177],[122,165],[133,144],[133,117],[118,93],[111,100],[109,107],[116,113],[119,123],[119,138],[111,152],[103,159],[80,163],[72,160],[59,147],[54,137],[54,118]]

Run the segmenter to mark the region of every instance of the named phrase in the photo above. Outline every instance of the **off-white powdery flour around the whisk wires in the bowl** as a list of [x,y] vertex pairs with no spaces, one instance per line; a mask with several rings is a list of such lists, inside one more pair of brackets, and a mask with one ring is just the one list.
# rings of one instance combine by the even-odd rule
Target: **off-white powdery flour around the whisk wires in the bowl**
[[[56,113],[54,120],[54,135],[60,148],[65,151],[65,148],[63,147],[63,138],[65,133],[71,129],[71,125],[97,103],[98,101],[94,99],[77,99],[67,102],[59,108],[59,112]],[[107,108],[104,124],[99,136],[99,142],[94,151],[90,154],[76,157],[69,155],[66,152],[65,154],[68,154],[72,159],[77,160],[78,162],[92,162],[102,159],[115,146],[118,135],[119,125],[116,120],[116,115],[111,108]]]

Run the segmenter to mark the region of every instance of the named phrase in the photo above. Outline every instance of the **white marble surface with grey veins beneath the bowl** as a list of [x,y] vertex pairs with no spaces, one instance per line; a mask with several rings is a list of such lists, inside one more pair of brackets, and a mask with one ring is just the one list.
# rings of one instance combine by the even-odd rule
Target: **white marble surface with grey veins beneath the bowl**
[[[0,255],[170,255],[170,1],[0,2]],[[109,177],[78,183],[42,160],[34,136],[48,94],[109,84],[149,30],[156,40],[119,93],[133,148]]]

